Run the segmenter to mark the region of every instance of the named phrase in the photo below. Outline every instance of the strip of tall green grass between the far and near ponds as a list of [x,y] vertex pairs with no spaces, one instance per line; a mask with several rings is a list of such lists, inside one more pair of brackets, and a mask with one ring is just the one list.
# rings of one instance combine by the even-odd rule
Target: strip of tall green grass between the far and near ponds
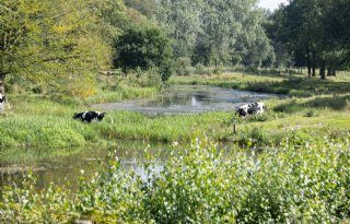
[[[108,111],[102,122],[83,123],[72,119],[74,111],[83,111],[81,104],[63,104],[43,97],[18,101],[14,109],[0,117],[0,145],[68,148],[95,142],[113,142],[116,139],[160,142],[188,142],[194,134],[211,137],[218,141],[235,141],[240,144],[278,145],[281,138],[312,132],[316,137],[325,132],[342,138],[349,127],[347,97],[339,104],[318,104],[314,99],[272,99],[267,102],[270,110],[264,115],[240,118],[234,113],[205,113],[195,115],[147,116],[129,111]],[[325,96],[327,99],[327,96]],[[341,106],[341,105],[345,106]],[[319,106],[318,106],[319,105]],[[338,107],[339,105],[340,107]],[[337,109],[340,109],[339,111]],[[15,111],[15,113],[14,113]],[[233,123],[237,133],[233,134]],[[294,128],[293,128],[294,127]]]

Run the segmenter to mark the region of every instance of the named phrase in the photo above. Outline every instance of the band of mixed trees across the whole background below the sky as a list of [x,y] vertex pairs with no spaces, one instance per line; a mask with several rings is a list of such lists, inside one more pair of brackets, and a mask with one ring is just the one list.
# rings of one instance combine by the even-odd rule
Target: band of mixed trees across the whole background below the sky
[[101,69],[349,67],[349,0],[0,0],[0,92],[19,82],[85,97]]

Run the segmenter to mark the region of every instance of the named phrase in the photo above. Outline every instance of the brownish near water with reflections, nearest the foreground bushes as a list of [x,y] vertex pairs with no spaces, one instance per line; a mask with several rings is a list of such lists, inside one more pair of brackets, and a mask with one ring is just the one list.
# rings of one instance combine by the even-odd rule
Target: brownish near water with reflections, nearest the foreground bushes
[[[38,158],[37,161],[26,161],[26,153],[34,153],[35,151],[43,151],[45,149],[30,149],[23,150],[23,161],[13,162],[0,162],[0,189],[1,186],[9,185],[11,182],[20,184],[23,179],[23,175],[27,172],[34,172],[37,177],[37,188],[43,189],[50,182],[55,182],[59,186],[63,186],[70,182],[69,188],[75,189],[78,180],[82,174],[84,177],[91,177],[96,172],[103,168],[103,161],[107,158],[108,152],[112,150],[116,153],[120,161],[121,167],[135,168],[141,176],[144,175],[140,161],[144,157],[144,150],[148,149],[148,153],[155,155],[160,160],[166,156],[166,148],[164,144],[153,144],[152,149],[147,143],[140,141],[120,141],[117,146],[112,149],[106,148],[91,148],[77,150],[75,154],[70,154],[60,157],[46,157]],[[48,149],[46,149],[48,150]],[[74,149],[68,149],[74,150]],[[14,149],[18,153],[18,150]],[[63,150],[63,151],[67,151]],[[161,155],[161,156],[160,156]]]

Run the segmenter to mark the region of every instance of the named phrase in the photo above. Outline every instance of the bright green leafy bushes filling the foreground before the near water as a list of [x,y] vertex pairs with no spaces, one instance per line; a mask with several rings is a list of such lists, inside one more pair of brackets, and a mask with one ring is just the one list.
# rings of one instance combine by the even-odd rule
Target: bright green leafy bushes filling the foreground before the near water
[[[175,150],[176,149],[176,150]],[[349,142],[331,139],[257,153],[223,154],[194,139],[175,146],[159,165],[143,164],[145,178],[122,169],[112,153],[77,193],[51,185],[35,192],[28,175],[22,187],[2,190],[4,223],[335,223],[350,217]],[[83,173],[83,170],[82,170]]]

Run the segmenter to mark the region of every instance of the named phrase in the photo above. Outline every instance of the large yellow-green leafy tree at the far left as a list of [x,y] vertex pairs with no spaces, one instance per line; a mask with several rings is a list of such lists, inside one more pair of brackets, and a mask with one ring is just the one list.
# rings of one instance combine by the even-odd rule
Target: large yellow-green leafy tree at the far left
[[[1,0],[0,80],[21,75],[51,92],[88,96],[110,60],[96,9],[105,0]],[[2,87],[2,91],[3,87]]]

